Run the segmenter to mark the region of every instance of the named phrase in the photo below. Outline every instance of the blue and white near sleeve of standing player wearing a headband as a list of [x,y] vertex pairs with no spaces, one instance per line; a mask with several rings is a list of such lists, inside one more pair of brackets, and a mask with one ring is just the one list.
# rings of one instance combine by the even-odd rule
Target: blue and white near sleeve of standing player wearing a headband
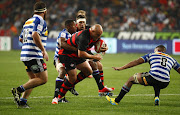
[[33,31],[38,32],[40,35],[42,34],[43,31],[43,23],[41,23],[41,20],[39,18],[36,18],[34,20],[34,28]]

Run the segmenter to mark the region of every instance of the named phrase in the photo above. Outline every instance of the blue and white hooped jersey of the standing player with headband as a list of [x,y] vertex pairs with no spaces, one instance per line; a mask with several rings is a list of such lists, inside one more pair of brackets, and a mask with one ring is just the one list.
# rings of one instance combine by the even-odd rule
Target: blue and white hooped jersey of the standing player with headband
[[28,19],[23,25],[21,35],[23,39],[23,46],[21,50],[21,61],[29,61],[32,59],[43,59],[41,50],[33,41],[32,33],[38,32],[43,46],[46,48],[47,42],[47,25],[46,21],[39,15],[34,14],[32,18]]

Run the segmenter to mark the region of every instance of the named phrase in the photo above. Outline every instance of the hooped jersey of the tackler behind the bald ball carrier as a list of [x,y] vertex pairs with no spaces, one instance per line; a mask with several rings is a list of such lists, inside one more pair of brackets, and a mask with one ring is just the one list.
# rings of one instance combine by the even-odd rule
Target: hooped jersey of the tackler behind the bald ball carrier
[[57,41],[56,41],[56,50],[55,50],[55,54],[54,54],[54,60],[57,60],[58,59],[58,52],[59,52],[59,47],[58,46],[60,46],[59,45],[59,42],[58,42],[58,40],[59,40],[59,38],[66,38],[66,40],[68,39],[68,38],[70,38],[71,37],[71,34],[66,30],[66,29],[63,29],[60,33],[59,33],[59,36],[58,36],[58,38],[57,38]]

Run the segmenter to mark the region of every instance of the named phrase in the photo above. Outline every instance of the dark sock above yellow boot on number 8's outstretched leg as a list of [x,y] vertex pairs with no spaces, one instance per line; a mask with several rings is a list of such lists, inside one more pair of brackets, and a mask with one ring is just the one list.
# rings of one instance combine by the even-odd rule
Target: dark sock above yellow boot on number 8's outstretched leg
[[124,97],[126,93],[130,91],[130,87],[127,87],[127,85],[123,85],[119,95],[116,97],[115,102],[119,103],[121,99]]

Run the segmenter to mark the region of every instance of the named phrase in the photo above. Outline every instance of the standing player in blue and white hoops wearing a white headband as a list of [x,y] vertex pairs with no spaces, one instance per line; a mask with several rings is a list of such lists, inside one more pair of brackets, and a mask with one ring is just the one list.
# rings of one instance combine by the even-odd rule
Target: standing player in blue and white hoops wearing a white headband
[[[23,43],[20,60],[23,61],[30,78],[25,84],[12,88],[14,101],[21,108],[29,108],[27,98],[32,89],[45,84],[48,79],[46,63],[43,61],[43,58],[46,61],[49,59],[45,49],[48,34],[45,21],[46,10],[44,2],[36,2],[34,15],[25,22],[19,36],[19,41]],[[20,98],[21,93],[23,94]]]

